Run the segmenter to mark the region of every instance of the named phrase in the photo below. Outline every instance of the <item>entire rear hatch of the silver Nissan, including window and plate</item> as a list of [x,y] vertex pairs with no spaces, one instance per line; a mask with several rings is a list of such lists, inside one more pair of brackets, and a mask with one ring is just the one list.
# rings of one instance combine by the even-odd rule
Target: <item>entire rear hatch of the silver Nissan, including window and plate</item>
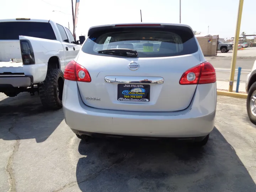
[[[137,50],[134,55],[98,53]],[[83,102],[123,111],[179,111],[190,104],[197,85],[180,85],[182,74],[199,65],[193,31],[183,25],[110,26],[89,31],[78,64],[91,82],[78,81]]]

